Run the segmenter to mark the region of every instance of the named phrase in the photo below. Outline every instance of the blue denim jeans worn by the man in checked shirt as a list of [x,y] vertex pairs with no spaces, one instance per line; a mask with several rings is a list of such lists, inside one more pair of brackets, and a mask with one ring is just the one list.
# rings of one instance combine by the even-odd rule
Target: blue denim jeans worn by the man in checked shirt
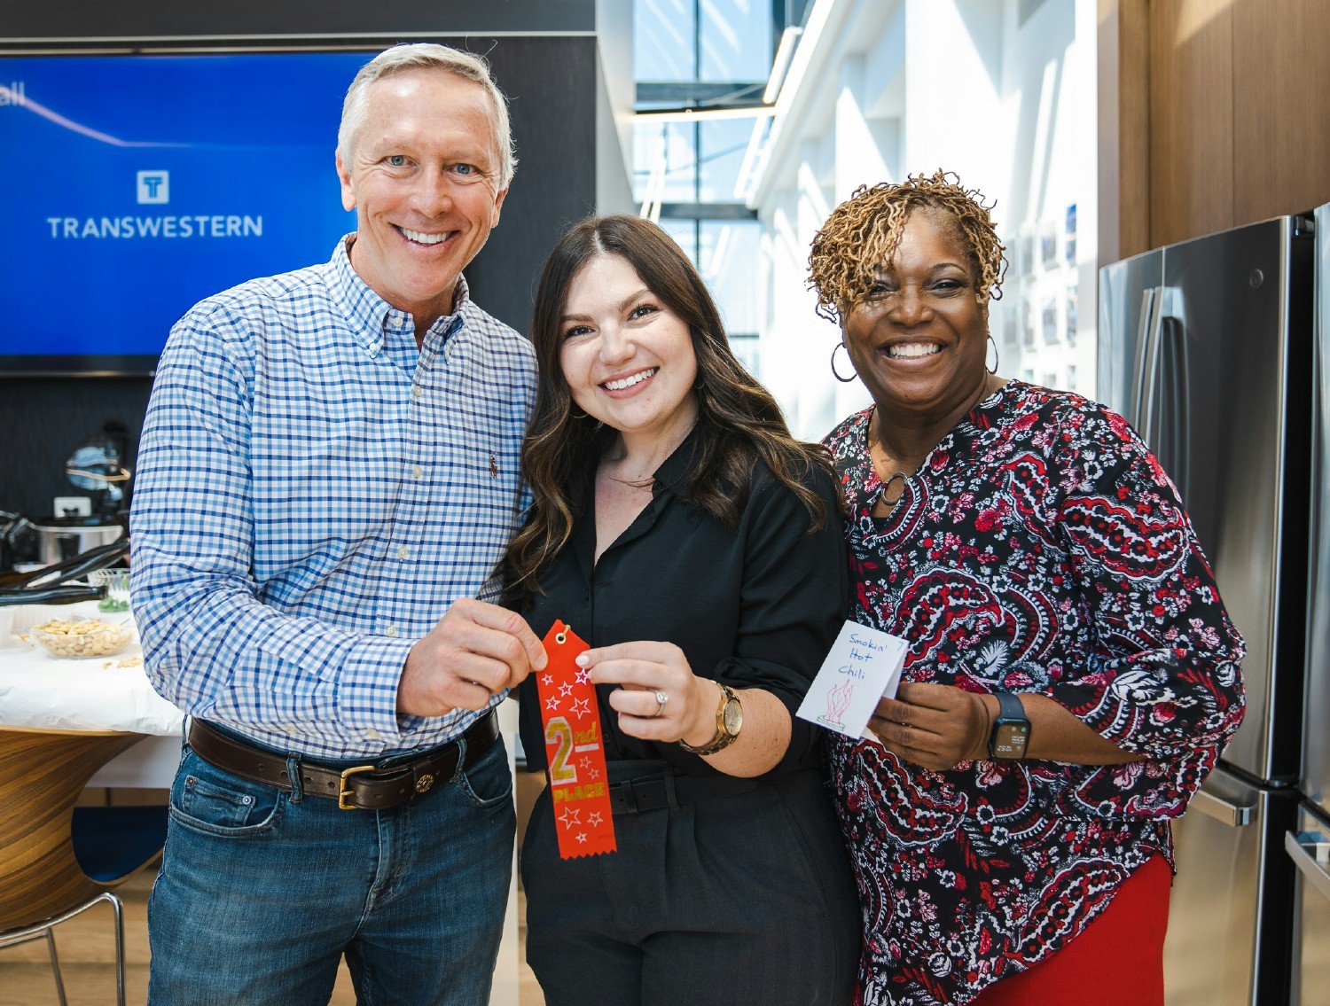
[[148,1001],[326,1006],[344,954],[366,1006],[487,1003],[513,831],[501,739],[390,811],[299,799],[186,747],[148,904]]

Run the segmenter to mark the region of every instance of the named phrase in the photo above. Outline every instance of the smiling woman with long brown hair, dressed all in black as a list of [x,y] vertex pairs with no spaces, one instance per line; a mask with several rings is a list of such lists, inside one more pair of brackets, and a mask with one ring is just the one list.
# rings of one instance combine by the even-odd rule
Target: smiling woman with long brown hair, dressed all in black
[[[793,715],[847,606],[825,453],[743,369],[658,227],[584,221],[532,324],[540,377],[507,562],[537,635],[589,645],[618,851],[521,855],[527,957],[560,1003],[843,1003],[858,906],[817,731]],[[544,768],[535,682],[528,765]]]

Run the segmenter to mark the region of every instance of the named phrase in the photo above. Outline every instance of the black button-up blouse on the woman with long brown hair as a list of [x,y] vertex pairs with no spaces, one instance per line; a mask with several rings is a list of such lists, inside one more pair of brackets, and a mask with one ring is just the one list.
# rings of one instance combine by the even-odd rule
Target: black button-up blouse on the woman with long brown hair
[[[544,593],[527,621],[544,638],[561,618],[593,647],[670,642],[698,676],[771,692],[789,707],[793,730],[789,751],[769,775],[815,767],[821,731],[794,719],[794,711],[849,610],[835,485],[822,470],[809,476],[827,508],[822,529],[810,534],[803,504],[758,462],[747,505],[730,532],[680,498],[693,477],[696,436],[656,470],[652,501],[595,563],[595,470],[587,473],[573,536],[541,571]],[[621,734],[606,702],[613,687],[597,688],[608,760],[660,759],[692,776],[718,775],[677,744]],[[535,678],[523,682],[519,702],[527,765],[544,769]]]

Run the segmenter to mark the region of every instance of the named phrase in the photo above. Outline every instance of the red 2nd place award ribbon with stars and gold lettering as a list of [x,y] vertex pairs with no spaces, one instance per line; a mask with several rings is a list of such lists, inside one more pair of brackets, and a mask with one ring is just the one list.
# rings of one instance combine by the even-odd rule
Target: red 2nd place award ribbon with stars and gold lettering
[[573,660],[589,650],[563,622],[545,634],[549,663],[536,675],[540,719],[545,727],[549,796],[555,803],[559,856],[565,860],[614,852],[605,746],[596,686]]

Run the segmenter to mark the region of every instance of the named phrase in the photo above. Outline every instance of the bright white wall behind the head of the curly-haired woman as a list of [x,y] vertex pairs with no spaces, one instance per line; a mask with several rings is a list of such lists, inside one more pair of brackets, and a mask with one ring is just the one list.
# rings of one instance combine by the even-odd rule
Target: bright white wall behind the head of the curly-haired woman
[[[805,287],[814,233],[857,186],[938,167],[996,201],[1012,259],[992,311],[999,372],[1092,393],[1095,3],[1044,0],[1024,23],[1020,7],[1029,4],[814,4],[747,197],[763,227],[759,376],[799,436],[821,437],[868,401],[858,383],[831,376],[839,332],[814,315]],[[839,363],[845,372],[845,353]]]

